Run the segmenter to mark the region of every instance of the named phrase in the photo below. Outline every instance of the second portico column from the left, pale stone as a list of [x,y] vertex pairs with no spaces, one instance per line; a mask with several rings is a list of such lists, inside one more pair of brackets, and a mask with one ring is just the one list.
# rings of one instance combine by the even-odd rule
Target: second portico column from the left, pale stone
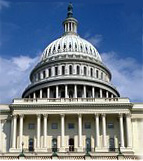
[[23,117],[24,115],[20,115],[20,124],[19,124],[19,148],[22,149],[22,141],[23,141]]

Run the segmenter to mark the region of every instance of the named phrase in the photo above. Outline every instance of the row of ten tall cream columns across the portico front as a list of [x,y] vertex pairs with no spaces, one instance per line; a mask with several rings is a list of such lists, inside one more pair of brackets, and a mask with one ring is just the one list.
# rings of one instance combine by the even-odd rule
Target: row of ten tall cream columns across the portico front
[[[96,132],[96,148],[99,148],[100,145],[100,114],[95,114],[95,132]],[[43,124],[43,135],[44,135],[44,145],[43,148],[47,147],[47,118],[48,114],[44,114],[44,124]],[[23,118],[24,115],[20,115],[20,123],[19,123],[19,148],[22,148],[23,141]],[[102,120],[102,143],[103,147],[107,147],[107,139],[106,139],[106,114],[101,114]],[[119,114],[119,124],[120,124],[120,142],[121,147],[125,147],[124,140],[124,125],[123,125],[123,114]],[[12,148],[16,149],[16,139],[17,139],[17,115],[13,116],[12,120],[13,125],[13,135],[12,135]],[[127,136],[127,148],[132,147],[132,130],[131,130],[131,116],[130,114],[126,114],[126,136]],[[37,115],[37,149],[41,148],[40,139],[41,138],[41,114]],[[61,114],[61,150],[64,151],[65,147],[65,114]],[[82,114],[78,114],[78,147],[82,148]]]

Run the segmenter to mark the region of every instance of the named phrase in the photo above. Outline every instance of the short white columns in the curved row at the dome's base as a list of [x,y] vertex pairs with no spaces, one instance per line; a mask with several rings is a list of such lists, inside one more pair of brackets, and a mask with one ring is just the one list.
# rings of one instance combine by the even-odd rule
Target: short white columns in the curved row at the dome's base
[[[59,98],[59,86],[56,86],[56,98]],[[78,90],[77,90],[77,85],[74,85],[74,98],[77,98],[77,93],[78,93]],[[87,93],[87,86],[83,86],[83,98],[86,98],[86,93]],[[92,91],[91,91],[91,95],[92,95],[92,98],[95,98],[95,87],[92,87]],[[30,95],[29,95],[30,97]],[[113,98],[114,95],[111,94],[111,98]],[[36,99],[36,93],[34,92],[33,93],[33,98]],[[43,90],[40,89],[40,98],[42,99],[43,98]],[[47,88],[47,98],[50,98],[50,87]],[[65,85],[65,98],[69,98],[69,95],[68,95],[68,85]],[[103,89],[99,89],[99,98],[103,98]],[[106,91],[106,98],[109,98],[109,91]]]

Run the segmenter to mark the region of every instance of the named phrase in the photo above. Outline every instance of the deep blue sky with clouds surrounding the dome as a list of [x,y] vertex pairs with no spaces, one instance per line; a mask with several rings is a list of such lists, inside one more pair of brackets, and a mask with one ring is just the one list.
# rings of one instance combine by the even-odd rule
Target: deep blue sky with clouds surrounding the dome
[[[62,22],[66,18],[68,3],[0,0],[0,74],[3,74],[0,102],[20,97],[40,53],[62,35]],[[101,53],[105,64],[114,74],[113,83],[121,95],[129,96],[132,101],[143,101],[140,96],[140,90],[143,89],[142,2],[74,0],[72,3],[74,17],[79,21],[79,35],[95,45]],[[9,80],[7,72],[11,76],[13,73],[16,80]],[[9,89],[13,94],[6,94]]]

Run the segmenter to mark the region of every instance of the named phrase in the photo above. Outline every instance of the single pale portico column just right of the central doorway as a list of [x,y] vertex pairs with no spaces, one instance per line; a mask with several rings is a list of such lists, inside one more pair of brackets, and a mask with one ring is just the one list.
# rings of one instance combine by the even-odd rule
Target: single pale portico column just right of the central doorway
[[82,115],[78,114],[78,146],[82,150]]

